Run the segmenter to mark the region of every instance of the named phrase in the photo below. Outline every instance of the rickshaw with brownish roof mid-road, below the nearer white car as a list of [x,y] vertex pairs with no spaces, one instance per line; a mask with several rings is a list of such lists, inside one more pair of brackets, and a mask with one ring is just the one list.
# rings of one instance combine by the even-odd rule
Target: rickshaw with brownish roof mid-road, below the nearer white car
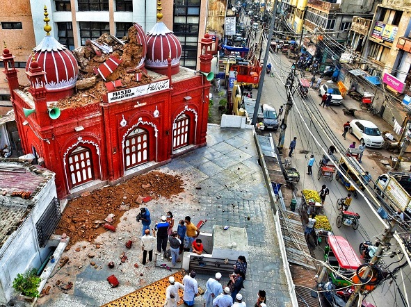
[[365,171],[360,165],[360,163],[357,161],[355,157],[352,156],[341,156],[341,159],[339,160],[339,169],[340,171],[337,171],[335,173],[335,180],[341,181],[342,184],[346,187],[346,189],[350,192],[353,193],[353,196],[355,198],[358,197],[357,190],[355,190],[355,186],[350,183],[347,179],[344,178],[343,173],[345,176],[347,176],[351,181],[355,182],[355,185],[357,187],[364,191],[364,185],[362,185],[362,181],[360,179],[364,178],[365,176]]

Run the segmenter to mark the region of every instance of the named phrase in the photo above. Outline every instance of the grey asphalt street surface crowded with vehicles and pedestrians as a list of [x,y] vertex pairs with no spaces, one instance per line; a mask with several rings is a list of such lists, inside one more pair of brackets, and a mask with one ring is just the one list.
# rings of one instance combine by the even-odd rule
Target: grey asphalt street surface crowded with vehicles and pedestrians
[[[291,71],[291,62],[281,53],[269,53],[268,63],[272,63],[275,73],[274,77],[270,77],[268,74],[265,75],[260,105],[262,103],[268,103],[278,110],[280,106],[287,101],[284,83]],[[296,75],[299,78],[302,77],[301,72],[297,71]],[[309,79],[311,77],[312,74],[305,72],[305,78]],[[323,83],[325,81],[326,80],[323,78]],[[318,191],[321,190],[321,185],[327,185],[330,189],[330,194],[325,199],[324,208],[325,215],[327,215],[332,226],[332,231],[335,235],[341,235],[346,238],[353,249],[357,251],[357,255],[360,256],[358,252],[359,244],[365,240],[376,242],[376,238],[382,238],[385,227],[376,215],[376,210],[371,208],[363,197],[359,196],[358,199],[353,199],[350,210],[360,215],[360,227],[356,231],[353,230],[352,227],[344,225],[341,226],[341,228],[337,228],[336,218],[339,210],[337,210],[336,201],[341,197],[346,197],[348,191],[344,185],[337,182],[335,179],[332,181],[324,178],[317,179],[319,160],[323,156],[324,151],[326,152],[331,144],[335,145],[339,153],[345,153],[346,148],[348,148],[349,144],[353,141],[355,141],[357,145],[360,143],[354,135],[348,133],[346,140],[344,140],[341,135],[343,124],[353,118],[371,120],[380,128],[380,131],[392,131],[392,127],[381,118],[372,116],[367,111],[358,110],[355,113],[355,117],[344,115],[342,111],[344,104],[350,103],[350,105],[353,105],[353,103],[357,103],[357,101],[353,101],[348,96],[344,99],[342,106],[330,106],[330,108],[321,108],[319,106],[321,98],[319,97],[318,90],[309,89],[309,94],[306,99],[302,99],[298,95],[298,92],[295,92],[293,97],[296,103],[291,108],[287,120],[287,130],[284,136],[283,159],[289,158],[287,156],[289,152],[289,144],[293,137],[297,137],[297,144],[296,149],[293,152],[293,157],[289,158],[291,159],[291,166],[296,167],[301,176],[299,183],[296,184],[296,196],[300,199],[301,190],[309,189]],[[358,103],[356,108],[360,109]],[[266,131],[264,131],[264,133],[266,133]],[[275,131],[273,135],[275,142],[278,143],[280,129]],[[307,163],[311,154],[314,154],[316,161],[312,168],[313,175],[307,175]],[[367,148],[365,150],[362,158],[362,167],[364,167],[364,170],[369,171],[373,181],[375,181],[380,174],[387,172],[380,163],[380,160],[389,160],[390,155],[392,155],[392,153],[389,153],[384,149]],[[336,156],[337,159],[339,159],[340,155],[337,154]],[[409,166],[406,168],[409,169]],[[298,200],[298,204],[299,203],[300,201]],[[391,243],[391,251],[399,249],[394,239]],[[316,247],[315,254],[317,258],[322,257],[323,251],[321,247]],[[400,258],[401,255],[395,256],[394,258],[385,257],[383,258],[383,261],[385,263],[393,263],[389,267],[389,269],[392,270],[400,263],[404,262],[404,260],[402,260],[394,264],[394,262],[398,261]],[[401,271],[398,272],[396,283],[390,283],[390,281],[383,283],[376,288],[366,300],[375,306],[406,306],[401,300],[398,289],[403,292],[405,299],[408,299],[404,285],[405,288],[411,289],[409,266],[405,267],[402,273]]]

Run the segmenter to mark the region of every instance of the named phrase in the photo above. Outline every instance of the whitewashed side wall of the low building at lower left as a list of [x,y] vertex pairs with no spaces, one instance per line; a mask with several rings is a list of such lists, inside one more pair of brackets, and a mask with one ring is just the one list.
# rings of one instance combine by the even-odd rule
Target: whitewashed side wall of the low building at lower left
[[[35,224],[54,197],[57,197],[54,173],[50,174],[51,179],[33,199],[13,198],[13,201],[19,201],[20,204],[32,204],[33,209],[0,249],[0,304],[6,304],[13,297],[15,291],[12,285],[17,274],[32,267],[39,268],[49,254],[48,245],[44,248],[38,246]],[[10,203],[12,199],[8,199]]]

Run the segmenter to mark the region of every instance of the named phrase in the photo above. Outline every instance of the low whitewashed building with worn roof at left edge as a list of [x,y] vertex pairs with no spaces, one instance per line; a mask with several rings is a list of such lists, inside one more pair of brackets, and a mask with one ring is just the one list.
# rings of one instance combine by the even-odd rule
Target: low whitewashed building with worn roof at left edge
[[18,159],[0,163],[0,305],[19,273],[39,268],[54,251],[49,238],[61,218],[54,173]]

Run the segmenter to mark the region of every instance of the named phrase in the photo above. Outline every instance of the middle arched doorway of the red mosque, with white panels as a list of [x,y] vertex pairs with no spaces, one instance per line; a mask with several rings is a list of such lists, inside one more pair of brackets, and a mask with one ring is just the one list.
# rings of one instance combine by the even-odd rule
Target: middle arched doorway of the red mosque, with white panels
[[148,162],[148,132],[134,128],[124,140],[125,169]]

